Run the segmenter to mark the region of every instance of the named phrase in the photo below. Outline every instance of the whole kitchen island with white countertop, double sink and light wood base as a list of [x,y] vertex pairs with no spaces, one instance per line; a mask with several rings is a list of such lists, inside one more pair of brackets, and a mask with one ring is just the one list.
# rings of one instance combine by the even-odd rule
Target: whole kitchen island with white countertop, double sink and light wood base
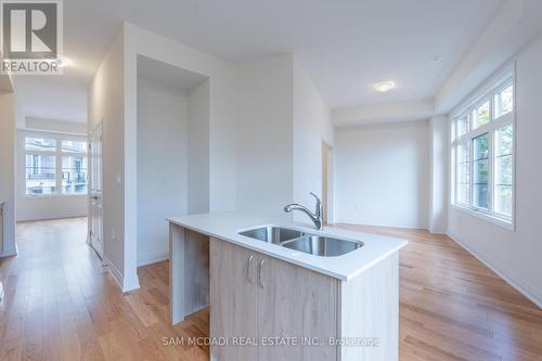
[[[168,221],[171,322],[210,306],[211,360],[398,360],[406,241],[237,212]],[[328,249],[295,246],[309,240]]]

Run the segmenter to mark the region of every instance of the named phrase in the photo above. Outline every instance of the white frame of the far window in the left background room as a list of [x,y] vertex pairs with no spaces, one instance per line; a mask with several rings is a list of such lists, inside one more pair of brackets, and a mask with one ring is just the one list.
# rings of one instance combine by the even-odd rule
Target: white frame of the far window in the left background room
[[[26,138],[41,138],[41,139],[51,139],[56,142],[56,147],[55,151],[27,151],[26,150]],[[20,188],[20,193],[23,197],[28,198],[28,199],[36,199],[36,198],[49,198],[49,197],[81,197],[88,196],[87,193],[64,193],[62,192],[62,157],[63,156],[74,156],[77,155],[77,153],[67,153],[67,152],[62,152],[62,141],[74,141],[74,142],[86,142],[87,143],[87,150],[85,153],[85,156],[87,157],[87,172],[89,171],[88,165],[88,156],[89,156],[89,150],[88,150],[88,140],[87,137],[83,136],[75,136],[75,134],[65,134],[65,133],[54,133],[54,132],[46,132],[46,131],[33,131],[33,130],[22,130],[18,132],[18,150],[21,156],[20,158],[20,181],[17,181],[17,186]],[[39,194],[39,195],[33,195],[33,194],[26,194],[26,156],[27,155],[34,155],[34,154],[39,154],[39,155],[52,155],[55,157],[55,183],[56,183],[56,192],[52,194]],[[88,179],[87,179],[88,183]],[[88,183],[89,188],[90,184]]]

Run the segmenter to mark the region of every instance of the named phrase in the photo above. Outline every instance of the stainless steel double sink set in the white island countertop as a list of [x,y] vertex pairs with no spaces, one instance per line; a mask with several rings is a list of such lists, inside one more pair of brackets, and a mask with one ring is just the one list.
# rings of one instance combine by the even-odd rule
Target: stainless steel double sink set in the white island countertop
[[339,240],[274,225],[259,227],[238,234],[321,257],[341,256],[363,246],[359,241]]

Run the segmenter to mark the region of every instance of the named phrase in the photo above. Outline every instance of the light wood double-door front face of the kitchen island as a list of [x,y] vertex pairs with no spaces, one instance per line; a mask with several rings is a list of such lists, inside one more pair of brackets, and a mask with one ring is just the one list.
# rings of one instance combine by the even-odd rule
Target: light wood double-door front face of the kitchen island
[[230,340],[211,347],[216,360],[337,360],[335,279],[212,238],[210,269],[210,333]]

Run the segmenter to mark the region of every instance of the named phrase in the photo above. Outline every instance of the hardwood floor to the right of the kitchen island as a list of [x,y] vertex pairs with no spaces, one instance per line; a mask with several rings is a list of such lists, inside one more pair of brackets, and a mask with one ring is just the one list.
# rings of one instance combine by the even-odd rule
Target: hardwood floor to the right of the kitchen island
[[346,225],[402,237],[400,360],[542,360],[542,310],[446,235]]

